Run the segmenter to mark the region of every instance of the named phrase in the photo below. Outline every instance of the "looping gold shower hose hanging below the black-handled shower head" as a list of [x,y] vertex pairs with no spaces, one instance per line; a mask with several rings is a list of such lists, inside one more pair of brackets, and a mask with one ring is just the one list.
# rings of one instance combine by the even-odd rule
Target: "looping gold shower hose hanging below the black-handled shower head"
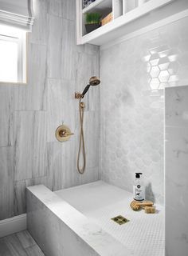
[[[82,98],[79,100],[79,113],[80,113],[80,142],[79,142],[79,150],[77,156],[77,170],[80,174],[84,174],[86,157],[85,157],[85,145],[84,145],[84,102],[81,102]],[[83,154],[83,166],[80,167],[80,153],[82,151]]]

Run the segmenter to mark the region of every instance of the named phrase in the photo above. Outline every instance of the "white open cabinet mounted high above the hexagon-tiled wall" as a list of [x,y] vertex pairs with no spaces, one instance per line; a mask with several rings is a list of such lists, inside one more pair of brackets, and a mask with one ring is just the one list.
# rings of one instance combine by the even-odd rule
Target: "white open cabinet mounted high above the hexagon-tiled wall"
[[[77,44],[104,45],[116,38],[154,29],[188,15],[187,0],[96,0],[82,8],[82,0],[76,0]],[[112,13],[112,21],[88,33],[85,16],[99,13],[101,17]]]

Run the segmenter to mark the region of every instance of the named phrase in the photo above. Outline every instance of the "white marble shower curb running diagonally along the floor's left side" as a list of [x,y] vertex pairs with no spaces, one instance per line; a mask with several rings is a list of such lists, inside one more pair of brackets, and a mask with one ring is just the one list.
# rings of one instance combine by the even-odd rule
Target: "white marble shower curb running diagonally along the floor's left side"
[[[27,189],[28,228],[48,256],[129,256],[130,251],[45,186]],[[40,227],[40,228],[39,228]]]

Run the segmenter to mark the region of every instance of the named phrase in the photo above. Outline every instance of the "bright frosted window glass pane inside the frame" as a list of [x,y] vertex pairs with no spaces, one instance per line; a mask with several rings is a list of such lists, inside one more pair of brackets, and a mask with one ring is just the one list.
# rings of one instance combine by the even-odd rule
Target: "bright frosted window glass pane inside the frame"
[[18,81],[18,43],[0,40],[0,82]]

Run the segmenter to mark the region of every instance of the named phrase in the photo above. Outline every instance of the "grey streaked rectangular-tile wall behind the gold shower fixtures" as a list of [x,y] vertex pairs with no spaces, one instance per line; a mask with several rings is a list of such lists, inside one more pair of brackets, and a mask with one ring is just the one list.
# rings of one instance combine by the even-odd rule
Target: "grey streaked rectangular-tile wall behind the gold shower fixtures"
[[[28,42],[28,84],[0,85],[0,219],[25,213],[25,186],[52,190],[98,179],[100,88],[84,98],[88,154],[84,175],[76,171],[79,134],[75,90],[100,75],[97,46],[76,46],[74,0],[33,1],[35,21]],[[65,122],[74,135],[57,142]]]

